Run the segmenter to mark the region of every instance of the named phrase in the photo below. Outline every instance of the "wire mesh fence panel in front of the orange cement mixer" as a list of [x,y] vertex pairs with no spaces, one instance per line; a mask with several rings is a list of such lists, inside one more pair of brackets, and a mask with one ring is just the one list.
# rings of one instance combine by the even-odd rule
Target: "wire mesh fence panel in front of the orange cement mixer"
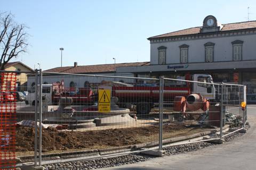
[[203,141],[220,131],[221,85],[203,75],[195,80],[164,79],[164,142]]

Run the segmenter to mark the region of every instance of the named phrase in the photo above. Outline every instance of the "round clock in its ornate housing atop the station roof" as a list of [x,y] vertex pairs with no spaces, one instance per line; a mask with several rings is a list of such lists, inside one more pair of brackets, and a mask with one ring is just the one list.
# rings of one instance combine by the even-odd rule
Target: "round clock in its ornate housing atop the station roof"
[[203,27],[200,29],[201,33],[216,32],[222,28],[221,24],[218,24],[217,19],[213,15],[208,15],[204,18]]

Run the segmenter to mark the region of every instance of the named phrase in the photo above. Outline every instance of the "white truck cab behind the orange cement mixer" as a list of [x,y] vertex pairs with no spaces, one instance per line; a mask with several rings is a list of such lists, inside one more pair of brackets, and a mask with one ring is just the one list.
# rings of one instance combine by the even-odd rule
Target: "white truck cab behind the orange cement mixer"
[[199,93],[204,98],[210,100],[215,99],[215,87],[212,81],[212,76],[210,74],[194,74],[192,80],[203,83],[193,82],[193,86],[191,87],[191,94]]

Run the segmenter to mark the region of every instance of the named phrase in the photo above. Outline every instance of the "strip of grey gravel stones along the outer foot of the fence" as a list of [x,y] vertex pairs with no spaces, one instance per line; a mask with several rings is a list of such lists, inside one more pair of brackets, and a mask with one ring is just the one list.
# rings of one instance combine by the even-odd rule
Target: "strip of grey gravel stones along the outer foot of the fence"
[[[224,139],[228,142],[236,137],[243,135],[244,133],[233,133],[230,134]],[[195,151],[198,149],[203,149],[209,146],[213,146],[216,144],[210,142],[196,142],[196,143],[189,143],[186,145],[178,145],[178,146],[171,146],[171,147],[164,147],[163,150],[166,151],[166,155],[176,155],[176,154],[183,154],[190,151]],[[144,162],[146,160],[152,159],[153,157],[149,157],[147,155],[141,154],[131,154],[131,155],[124,155],[118,156],[114,158],[100,158],[95,160],[81,160],[78,162],[68,162],[68,163],[57,163],[57,164],[48,164],[44,165],[45,170],[79,170],[79,169],[97,169],[97,168],[106,168],[106,167],[114,167],[120,166],[125,164],[133,164],[138,162]]]

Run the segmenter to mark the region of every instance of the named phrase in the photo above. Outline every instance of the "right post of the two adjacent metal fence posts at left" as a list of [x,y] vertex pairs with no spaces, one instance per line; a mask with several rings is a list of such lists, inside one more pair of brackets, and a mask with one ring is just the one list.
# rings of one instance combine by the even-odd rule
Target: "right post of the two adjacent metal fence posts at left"
[[42,69],[39,70],[39,167],[42,166]]

